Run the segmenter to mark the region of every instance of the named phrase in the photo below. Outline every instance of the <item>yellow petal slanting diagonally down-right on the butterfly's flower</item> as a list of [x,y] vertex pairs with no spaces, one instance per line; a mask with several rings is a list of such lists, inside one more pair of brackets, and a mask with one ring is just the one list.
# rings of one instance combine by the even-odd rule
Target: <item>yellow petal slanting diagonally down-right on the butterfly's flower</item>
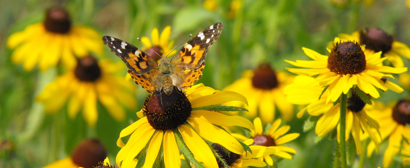
[[227,150],[237,154],[242,154],[244,152],[242,145],[228,132],[225,132],[225,130],[195,117],[189,117],[187,121],[204,139],[213,143],[218,143]]

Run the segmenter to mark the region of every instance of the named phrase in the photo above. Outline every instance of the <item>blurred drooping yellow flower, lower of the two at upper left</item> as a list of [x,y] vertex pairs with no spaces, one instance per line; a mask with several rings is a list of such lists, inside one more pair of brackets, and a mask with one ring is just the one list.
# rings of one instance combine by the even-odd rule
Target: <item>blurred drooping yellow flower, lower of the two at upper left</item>
[[122,68],[122,63],[112,64],[109,60],[97,60],[91,56],[78,60],[72,71],[57,76],[38,95],[48,114],[58,112],[68,102],[68,116],[74,119],[82,109],[89,126],[98,119],[97,100],[107,108],[116,121],[125,119],[121,104],[129,109],[136,108],[132,95],[134,85],[114,73]]

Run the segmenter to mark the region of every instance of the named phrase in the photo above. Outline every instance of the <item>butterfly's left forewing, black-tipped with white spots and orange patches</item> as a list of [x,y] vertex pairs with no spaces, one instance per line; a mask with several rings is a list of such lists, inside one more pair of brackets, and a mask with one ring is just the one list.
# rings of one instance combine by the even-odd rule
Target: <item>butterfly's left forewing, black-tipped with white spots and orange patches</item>
[[158,68],[158,64],[153,58],[134,45],[110,36],[104,36],[103,41],[134,74],[142,75]]

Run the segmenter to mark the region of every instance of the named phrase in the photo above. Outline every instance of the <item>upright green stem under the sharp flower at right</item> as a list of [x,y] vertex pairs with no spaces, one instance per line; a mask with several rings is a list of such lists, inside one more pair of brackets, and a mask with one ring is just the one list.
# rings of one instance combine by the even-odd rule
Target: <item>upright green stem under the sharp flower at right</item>
[[346,110],[347,110],[347,95],[340,95],[340,159],[342,168],[347,168],[346,160]]

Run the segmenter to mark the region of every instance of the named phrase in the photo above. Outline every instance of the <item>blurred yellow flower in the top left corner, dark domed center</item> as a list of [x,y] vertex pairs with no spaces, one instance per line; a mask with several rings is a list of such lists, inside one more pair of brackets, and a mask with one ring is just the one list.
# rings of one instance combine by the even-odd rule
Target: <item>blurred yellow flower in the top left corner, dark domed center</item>
[[103,54],[101,36],[90,27],[71,25],[64,9],[49,9],[44,22],[11,34],[7,47],[15,49],[11,55],[13,63],[23,63],[26,71],[31,71],[37,64],[41,71],[45,71],[59,61],[73,68],[76,57],[87,56],[90,51]]

